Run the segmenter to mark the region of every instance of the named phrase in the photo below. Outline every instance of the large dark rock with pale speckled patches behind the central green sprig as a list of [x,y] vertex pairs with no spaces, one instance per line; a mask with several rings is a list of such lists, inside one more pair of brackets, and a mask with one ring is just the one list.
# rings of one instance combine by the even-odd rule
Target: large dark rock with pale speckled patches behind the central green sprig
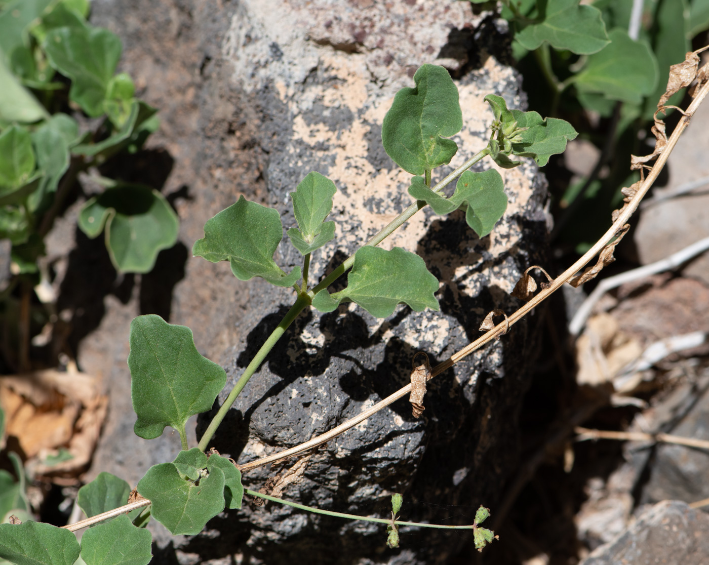
[[[274,206],[290,228],[295,221],[288,193],[316,170],[338,189],[330,216],[337,239],[314,254],[312,279],[354,252],[411,203],[410,175],[381,148],[381,121],[396,91],[413,84],[411,76],[424,62],[444,63],[457,78],[464,128],[454,138],[459,152],[452,167],[484,147],[492,119],[486,94],[504,96],[510,107],[525,104],[520,79],[499,62],[506,52],[503,23],[489,13],[473,13],[469,3],[128,4],[96,0],[94,21],[121,35],[124,69],[147,101],[165,108],[162,133],[152,143],[168,147],[174,157],[166,191],[188,187],[189,198],[176,201],[187,250],[201,237],[204,221],[238,194]],[[155,27],[157,37],[147,27]],[[479,164],[480,170],[490,166]],[[441,169],[434,180],[450,170]],[[426,352],[432,363],[446,359],[480,335],[477,328],[491,309],[517,308],[508,293],[520,272],[544,262],[547,193],[533,163],[501,174],[510,204],[488,237],[479,240],[460,212],[441,218],[426,210],[382,245],[425,259],[441,283],[440,313],[399,306],[390,318],[376,320],[345,305],[325,315],[301,315],[230,410],[215,438],[217,449],[244,462],[308,440],[406,384],[415,352]],[[301,261],[287,240],[276,259],[288,271]],[[111,371],[116,391],[125,392],[127,347],[100,333],[109,331],[111,320],[116,332],[127,332],[132,315],[150,311],[150,302],[140,306],[137,294],[135,287],[125,306],[111,305],[101,328],[82,345],[84,365],[94,362],[96,370],[101,354],[116,359],[104,369]],[[236,281],[226,264],[184,259],[169,321],[190,325],[199,350],[223,364],[233,384],[292,294],[260,279]],[[431,381],[420,420],[411,416],[411,405],[398,401],[322,447],[303,480],[284,496],[321,508],[386,515],[391,493],[403,492],[402,512],[415,521],[448,518],[435,508],[437,502],[469,510],[456,523],[470,523],[480,503],[494,509],[517,462],[516,415],[537,325],[535,313]],[[120,402],[91,472],[110,468],[120,452],[121,464],[112,472],[122,470],[135,483],[147,466],[165,460],[174,441],[169,435],[141,441],[137,453],[126,455],[135,417],[126,410],[125,396]],[[207,422],[199,419],[198,435]],[[258,489],[276,471],[250,471],[245,484]],[[237,562],[269,565],[296,557],[431,564],[445,562],[469,541],[430,530],[403,536],[402,549],[386,549],[385,540],[378,525],[245,504],[212,520],[197,537],[161,534],[155,552],[157,562],[235,556]]]

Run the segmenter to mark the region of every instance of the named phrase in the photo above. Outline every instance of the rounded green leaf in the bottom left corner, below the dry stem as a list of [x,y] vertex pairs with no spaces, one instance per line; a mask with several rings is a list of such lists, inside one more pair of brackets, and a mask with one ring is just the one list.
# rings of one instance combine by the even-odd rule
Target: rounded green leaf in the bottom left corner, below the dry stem
[[41,522],[0,524],[0,557],[16,565],[73,565],[80,551],[69,530]]

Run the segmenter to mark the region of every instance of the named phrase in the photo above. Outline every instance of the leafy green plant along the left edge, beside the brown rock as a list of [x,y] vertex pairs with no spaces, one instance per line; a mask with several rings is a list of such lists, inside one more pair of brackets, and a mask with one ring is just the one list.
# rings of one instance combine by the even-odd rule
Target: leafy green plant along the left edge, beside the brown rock
[[[77,175],[119,152],[135,152],[159,125],[135,98],[128,74],[116,74],[118,36],[86,21],[88,0],[0,2],[0,239],[11,242],[9,286],[19,287],[21,370],[28,370],[29,301],[40,277],[44,237]],[[148,272],[177,241],[178,219],[148,186],[97,179],[104,190],[79,213],[89,237],[104,233],[119,272]],[[12,308],[5,305],[4,315]]]

